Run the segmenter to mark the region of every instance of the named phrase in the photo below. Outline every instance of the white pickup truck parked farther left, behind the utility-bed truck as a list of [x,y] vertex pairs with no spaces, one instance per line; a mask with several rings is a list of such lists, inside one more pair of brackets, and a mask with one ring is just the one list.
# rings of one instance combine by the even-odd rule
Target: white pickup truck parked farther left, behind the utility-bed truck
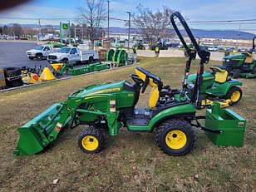
[[40,45],[34,49],[27,51],[27,58],[30,60],[37,59],[42,60],[43,58],[47,58],[50,53],[53,52],[53,47],[50,45]]

